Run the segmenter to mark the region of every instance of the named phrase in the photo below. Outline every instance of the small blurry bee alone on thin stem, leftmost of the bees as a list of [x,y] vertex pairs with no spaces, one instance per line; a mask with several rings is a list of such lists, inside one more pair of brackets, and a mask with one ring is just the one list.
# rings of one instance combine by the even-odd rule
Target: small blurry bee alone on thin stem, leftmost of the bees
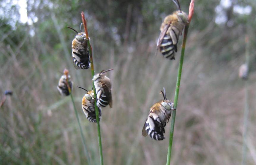
[[70,93],[69,93],[69,89],[67,86],[67,82],[68,82],[68,85],[71,90],[72,90],[73,82],[71,81],[71,77],[70,77],[69,71],[67,69],[64,69],[63,73],[64,74],[59,79],[59,84],[57,86],[57,89],[61,95],[69,96]]

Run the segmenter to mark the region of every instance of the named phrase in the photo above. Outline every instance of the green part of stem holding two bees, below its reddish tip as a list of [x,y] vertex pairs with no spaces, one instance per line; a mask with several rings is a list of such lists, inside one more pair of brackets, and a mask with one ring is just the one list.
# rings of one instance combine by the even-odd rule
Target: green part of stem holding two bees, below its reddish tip
[[181,49],[181,57],[180,57],[180,63],[179,63],[179,69],[178,69],[178,77],[177,77],[177,83],[176,83],[176,89],[175,89],[175,97],[174,97],[174,102],[173,102],[173,104],[174,104],[173,108],[175,110],[172,111],[172,117],[171,117],[171,130],[170,130],[170,139],[169,139],[166,165],[169,165],[170,160],[171,160],[171,148],[172,148],[172,140],[173,140],[173,131],[174,131],[174,124],[175,124],[175,117],[176,117],[176,109],[177,109],[177,105],[178,105],[180,80],[181,80],[181,74],[182,74],[182,65],[183,65],[183,59],[184,59],[184,53],[185,53],[188,26],[189,26],[189,24],[187,24],[185,26],[185,29],[184,29],[184,37],[183,37],[183,43],[182,43],[182,49]]

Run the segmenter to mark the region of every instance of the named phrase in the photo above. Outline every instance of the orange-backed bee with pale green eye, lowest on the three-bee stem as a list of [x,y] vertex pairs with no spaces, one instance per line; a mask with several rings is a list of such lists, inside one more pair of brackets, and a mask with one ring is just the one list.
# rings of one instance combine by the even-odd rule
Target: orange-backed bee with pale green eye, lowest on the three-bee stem
[[[78,88],[84,89],[82,87],[77,86]],[[87,91],[86,89],[84,89]],[[95,114],[95,104],[94,104],[94,92],[92,90],[87,91],[85,96],[82,99],[82,109],[86,116],[86,118],[93,123],[96,123],[96,114]],[[101,118],[101,108],[98,107],[99,110],[99,121]]]

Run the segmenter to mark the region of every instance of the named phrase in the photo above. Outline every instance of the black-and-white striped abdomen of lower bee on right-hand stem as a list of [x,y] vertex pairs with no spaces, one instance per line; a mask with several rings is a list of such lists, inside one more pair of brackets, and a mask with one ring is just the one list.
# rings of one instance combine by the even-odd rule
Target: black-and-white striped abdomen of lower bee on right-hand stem
[[[151,124],[149,124],[151,123]],[[150,128],[153,127],[153,129]],[[162,125],[162,123],[159,123],[158,121],[154,120],[151,116],[148,117],[147,121],[145,122],[145,129],[149,135],[150,138],[154,139],[154,140],[164,140],[164,125]]]

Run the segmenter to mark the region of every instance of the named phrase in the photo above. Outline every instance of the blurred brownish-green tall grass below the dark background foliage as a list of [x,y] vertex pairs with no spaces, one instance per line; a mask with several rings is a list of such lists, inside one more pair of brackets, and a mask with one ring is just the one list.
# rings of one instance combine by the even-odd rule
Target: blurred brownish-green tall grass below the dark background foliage
[[[10,40],[11,35],[19,37],[18,34],[6,34],[1,39],[7,42],[0,43],[1,98],[4,90],[14,91],[0,109],[2,164],[86,162],[72,103],[59,96],[56,89],[59,71],[72,66],[73,39],[63,33],[66,25],[57,24],[56,28],[62,32],[59,34],[65,39],[65,42],[57,39],[61,43],[59,47],[41,42],[40,35],[44,34],[37,31],[35,37],[26,32],[18,45]],[[150,36],[150,40],[157,35]],[[93,45],[98,45],[97,38],[91,40]],[[200,40],[208,40],[214,46],[210,44],[213,39],[203,38],[199,32],[191,31],[188,36],[171,164],[239,164],[244,88],[237,70],[243,56],[229,55],[229,60],[222,61],[216,52],[209,55],[209,47],[198,44]],[[108,46],[99,42],[102,47]],[[142,38],[138,43],[109,46],[104,51],[94,48],[95,71],[114,68],[108,73],[113,86],[113,108],[103,109],[100,123],[105,164],[165,164],[168,141],[145,138],[141,130],[149,108],[161,99],[159,92],[163,87],[167,97],[173,100],[180,52],[175,61],[168,61],[160,55],[154,56],[155,46],[151,42]],[[233,45],[239,43],[240,39]],[[221,46],[216,49],[227,49]],[[70,52],[69,61],[65,57],[66,48]],[[90,71],[80,75],[74,67],[68,69],[75,86],[91,88]],[[248,80],[252,109],[256,107],[255,80],[256,73],[252,71]],[[76,106],[80,107],[83,92],[74,88],[73,95]],[[252,110],[249,116],[246,164],[255,164],[256,112]],[[99,164],[96,124],[89,123],[81,107],[79,117],[90,144],[91,162]],[[166,132],[169,129],[167,124]],[[168,133],[165,136],[169,138]]]

